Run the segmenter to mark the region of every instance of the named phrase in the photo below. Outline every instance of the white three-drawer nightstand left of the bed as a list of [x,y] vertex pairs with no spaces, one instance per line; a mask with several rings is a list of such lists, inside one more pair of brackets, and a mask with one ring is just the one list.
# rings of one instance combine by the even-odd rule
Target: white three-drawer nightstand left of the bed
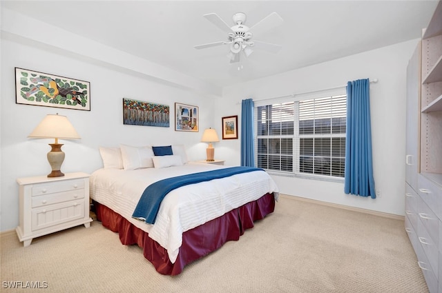
[[36,237],[77,225],[90,227],[89,176],[77,172],[17,179],[20,225],[15,231],[23,246]]

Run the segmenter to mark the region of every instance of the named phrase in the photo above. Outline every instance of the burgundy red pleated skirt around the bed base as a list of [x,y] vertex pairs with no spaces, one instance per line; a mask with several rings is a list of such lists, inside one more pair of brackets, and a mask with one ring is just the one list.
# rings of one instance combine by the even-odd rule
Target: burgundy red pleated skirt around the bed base
[[200,259],[220,248],[230,240],[238,240],[244,230],[253,228],[253,222],[264,218],[275,209],[273,194],[265,194],[256,201],[251,201],[240,208],[231,210],[217,219],[188,230],[182,234],[182,245],[175,263],[169,260],[167,250],[157,241],[149,238],[148,233],[135,227],[105,205],[94,201],[97,220],[104,227],[119,233],[119,240],[124,245],[137,244],[143,254],[160,274],[180,274],[185,265]]

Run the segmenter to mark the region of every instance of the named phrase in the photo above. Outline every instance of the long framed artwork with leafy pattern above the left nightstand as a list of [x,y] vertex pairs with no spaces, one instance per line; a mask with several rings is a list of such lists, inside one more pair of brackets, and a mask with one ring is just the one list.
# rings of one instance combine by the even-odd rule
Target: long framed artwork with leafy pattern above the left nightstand
[[15,103],[90,111],[90,83],[16,67]]

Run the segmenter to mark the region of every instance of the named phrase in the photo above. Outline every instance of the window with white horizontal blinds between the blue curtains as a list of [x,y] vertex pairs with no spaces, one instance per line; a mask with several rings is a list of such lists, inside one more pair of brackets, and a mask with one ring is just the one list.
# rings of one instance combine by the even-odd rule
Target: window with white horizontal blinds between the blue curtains
[[302,176],[343,177],[345,94],[256,106],[256,165]]

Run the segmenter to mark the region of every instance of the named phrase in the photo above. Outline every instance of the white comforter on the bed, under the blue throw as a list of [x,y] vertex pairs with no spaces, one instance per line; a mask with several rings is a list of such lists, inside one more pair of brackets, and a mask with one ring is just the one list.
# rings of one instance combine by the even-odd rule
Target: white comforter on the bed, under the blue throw
[[166,248],[175,263],[182,244],[182,233],[222,216],[244,203],[255,201],[278,188],[266,172],[236,174],[227,178],[186,185],[169,192],[160,205],[155,224],[132,218],[133,210],[151,183],[172,176],[203,172],[226,166],[187,163],[163,169],[99,169],[90,176],[90,197],[121,214],[151,239]]

